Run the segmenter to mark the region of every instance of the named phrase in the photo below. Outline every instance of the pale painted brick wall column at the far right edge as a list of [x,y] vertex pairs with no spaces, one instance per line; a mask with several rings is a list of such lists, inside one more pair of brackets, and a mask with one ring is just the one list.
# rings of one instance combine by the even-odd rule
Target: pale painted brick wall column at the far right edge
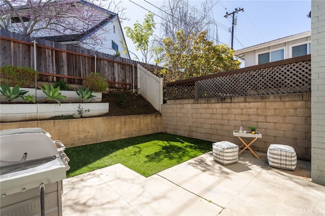
[[311,1],[311,178],[325,185],[325,1]]

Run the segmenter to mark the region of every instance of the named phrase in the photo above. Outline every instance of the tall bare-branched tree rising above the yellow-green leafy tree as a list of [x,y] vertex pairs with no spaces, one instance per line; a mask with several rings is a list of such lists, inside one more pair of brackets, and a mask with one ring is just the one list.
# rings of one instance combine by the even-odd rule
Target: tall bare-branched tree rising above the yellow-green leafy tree
[[184,30],[188,39],[190,34],[198,35],[206,30],[210,41],[218,43],[217,24],[211,19],[212,8],[217,4],[211,0],[201,3],[201,9],[188,5],[188,0],[165,0],[161,6],[160,38],[176,39],[176,32]]

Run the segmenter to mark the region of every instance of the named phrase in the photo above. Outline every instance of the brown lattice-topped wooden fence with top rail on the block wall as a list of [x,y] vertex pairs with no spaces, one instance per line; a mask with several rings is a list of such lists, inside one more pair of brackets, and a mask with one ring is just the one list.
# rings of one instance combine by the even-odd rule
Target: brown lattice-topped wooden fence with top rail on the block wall
[[192,99],[311,92],[310,55],[168,83],[166,98]]

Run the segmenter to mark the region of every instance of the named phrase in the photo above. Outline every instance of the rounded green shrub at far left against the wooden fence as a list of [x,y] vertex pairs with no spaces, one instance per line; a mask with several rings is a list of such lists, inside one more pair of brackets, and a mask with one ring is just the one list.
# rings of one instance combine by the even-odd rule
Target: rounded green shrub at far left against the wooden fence
[[2,78],[8,79],[10,86],[19,85],[21,87],[29,87],[31,81],[38,79],[39,73],[30,67],[18,67],[13,65],[5,65],[0,67]]

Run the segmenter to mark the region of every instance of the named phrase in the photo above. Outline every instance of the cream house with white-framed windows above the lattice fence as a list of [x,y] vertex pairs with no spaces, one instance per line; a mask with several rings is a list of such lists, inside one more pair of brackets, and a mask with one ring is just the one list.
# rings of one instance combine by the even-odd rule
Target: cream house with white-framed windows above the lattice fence
[[306,31],[237,50],[234,55],[245,62],[245,67],[307,55],[311,53],[310,37],[311,31]]

